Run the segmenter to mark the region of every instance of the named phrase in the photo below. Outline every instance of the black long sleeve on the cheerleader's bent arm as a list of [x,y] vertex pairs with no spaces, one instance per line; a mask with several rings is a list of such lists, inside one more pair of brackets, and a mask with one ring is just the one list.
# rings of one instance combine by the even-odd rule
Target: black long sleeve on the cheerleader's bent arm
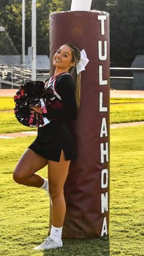
[[48,108],[48,113],[43,116],[49,119],[55,118],[58,120],[76,120],[77,106],[74,92],[73,78],[70,75],[63,75],[57,78],[57,92],[62,98],[63,109]]

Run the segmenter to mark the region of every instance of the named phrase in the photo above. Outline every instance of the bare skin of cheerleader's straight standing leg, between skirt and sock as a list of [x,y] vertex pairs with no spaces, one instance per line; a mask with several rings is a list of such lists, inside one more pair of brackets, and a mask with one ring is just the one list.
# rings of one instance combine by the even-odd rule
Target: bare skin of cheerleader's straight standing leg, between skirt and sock
[[68,175],[70,161],[65,160],[65,155],[60,155],[60,161],[48,160],[49,193],[52,200],[52,225],[62,227],[65,218],[66,205],[63,186]]

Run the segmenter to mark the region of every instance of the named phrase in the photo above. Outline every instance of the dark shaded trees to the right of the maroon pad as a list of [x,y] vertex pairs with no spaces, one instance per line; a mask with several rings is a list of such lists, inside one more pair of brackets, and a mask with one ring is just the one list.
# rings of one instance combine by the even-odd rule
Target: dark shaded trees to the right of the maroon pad
[[117,0],[109,5],[110,60],[131,65],[137,54],[144,54],[144,2]]

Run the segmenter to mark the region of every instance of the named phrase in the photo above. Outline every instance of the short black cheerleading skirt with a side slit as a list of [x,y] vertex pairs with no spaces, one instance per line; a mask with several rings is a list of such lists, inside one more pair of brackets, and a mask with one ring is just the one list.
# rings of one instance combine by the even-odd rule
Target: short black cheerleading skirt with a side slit
[[56,162],[60,161],[62,150],[66,160],[76,158],[73,137],[63,122],[52,121],[48,125],[38,128],[37,137],[28,148],[38,155]]

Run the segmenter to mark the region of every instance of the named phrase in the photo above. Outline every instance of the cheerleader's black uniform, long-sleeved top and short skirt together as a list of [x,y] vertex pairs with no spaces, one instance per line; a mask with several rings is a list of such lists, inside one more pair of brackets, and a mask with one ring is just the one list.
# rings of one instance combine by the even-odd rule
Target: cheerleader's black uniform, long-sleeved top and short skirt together
[[43,117],[47,117],[50,122],[38,128],[37,137],[29,148],[52,161],[59,162],[62,150],[66,160],[75,159],[76,148],[66,124],[76,120],[77,116],[73,78],[69,73],[63,73],[50,78],[47,83],[55,95],[47,113],[43,113]]

